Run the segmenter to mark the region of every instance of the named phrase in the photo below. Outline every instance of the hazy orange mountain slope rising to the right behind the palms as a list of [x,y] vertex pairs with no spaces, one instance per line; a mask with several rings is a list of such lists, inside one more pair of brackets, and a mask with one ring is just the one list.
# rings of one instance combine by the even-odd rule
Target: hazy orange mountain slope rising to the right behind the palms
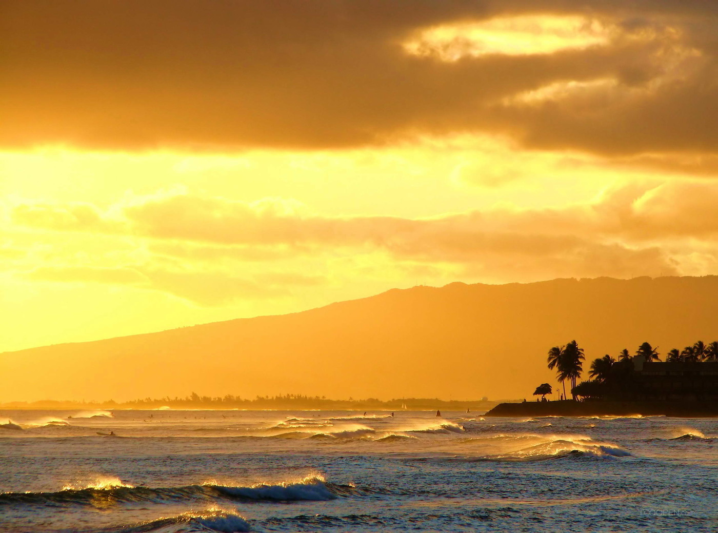
[[188,391],[530,398],[556,383],[546,351],[567,339],[590,361],[635,353],[637,340],[663,358],[714,338],[716,294],[715,276],[392,289],[291,315],[2,353],[0,402]]

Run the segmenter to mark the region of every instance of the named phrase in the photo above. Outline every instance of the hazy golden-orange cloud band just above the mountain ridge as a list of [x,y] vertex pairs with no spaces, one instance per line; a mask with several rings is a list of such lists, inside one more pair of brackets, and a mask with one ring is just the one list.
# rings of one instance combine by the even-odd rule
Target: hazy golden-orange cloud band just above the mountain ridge
[[[393,275],[701,275],[718,264],[717,202],[709,182],[666,182],[619,187],[581,205],[434,218],[330,217],[280,198],[247,203],[186,192],[106,208],[19,203],[9,209],[14,231],[49,238],[53,248],[37,252],[44,266],[17,247],[6,247],[14,251],[6,261],[24,279],[129,285],[209,306]],[[60,244],[83,236],[104,244],[92,253]]]

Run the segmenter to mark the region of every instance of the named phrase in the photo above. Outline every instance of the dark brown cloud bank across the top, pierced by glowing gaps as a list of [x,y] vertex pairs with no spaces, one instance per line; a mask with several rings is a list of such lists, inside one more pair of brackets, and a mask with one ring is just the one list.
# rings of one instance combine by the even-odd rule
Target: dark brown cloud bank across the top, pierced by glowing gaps
[[[107,149],[348,147],[502,132],[611,155],[717,152],[711,1],[5,0],[0,144]],[[579,15],[602,45],[445,62],[426,27]],[[551,83],[613,80],[531,103]]]

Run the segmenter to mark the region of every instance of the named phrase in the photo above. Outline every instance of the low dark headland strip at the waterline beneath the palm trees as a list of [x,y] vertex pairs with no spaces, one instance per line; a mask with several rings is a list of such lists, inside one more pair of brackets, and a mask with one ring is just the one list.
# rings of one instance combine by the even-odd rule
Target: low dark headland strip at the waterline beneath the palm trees
[[718,417],[715,402],[521,402],[502,403],[490,409],[486,417],[629,417],[632,415],[666,417]]

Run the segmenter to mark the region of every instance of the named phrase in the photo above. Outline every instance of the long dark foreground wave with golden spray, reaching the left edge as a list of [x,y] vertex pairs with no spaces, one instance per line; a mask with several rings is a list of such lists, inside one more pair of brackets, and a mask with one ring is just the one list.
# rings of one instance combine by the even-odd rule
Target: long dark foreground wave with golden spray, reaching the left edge
[[149,488],[113,486],[108,488],[67,489],[57,492],[0,493],[4,505],[105,506],[106,504],[161,504],[171,501],[329,501],[365,493],[351,485],[328,483],[309,477],[276,485],[220,486],[189,485]]

